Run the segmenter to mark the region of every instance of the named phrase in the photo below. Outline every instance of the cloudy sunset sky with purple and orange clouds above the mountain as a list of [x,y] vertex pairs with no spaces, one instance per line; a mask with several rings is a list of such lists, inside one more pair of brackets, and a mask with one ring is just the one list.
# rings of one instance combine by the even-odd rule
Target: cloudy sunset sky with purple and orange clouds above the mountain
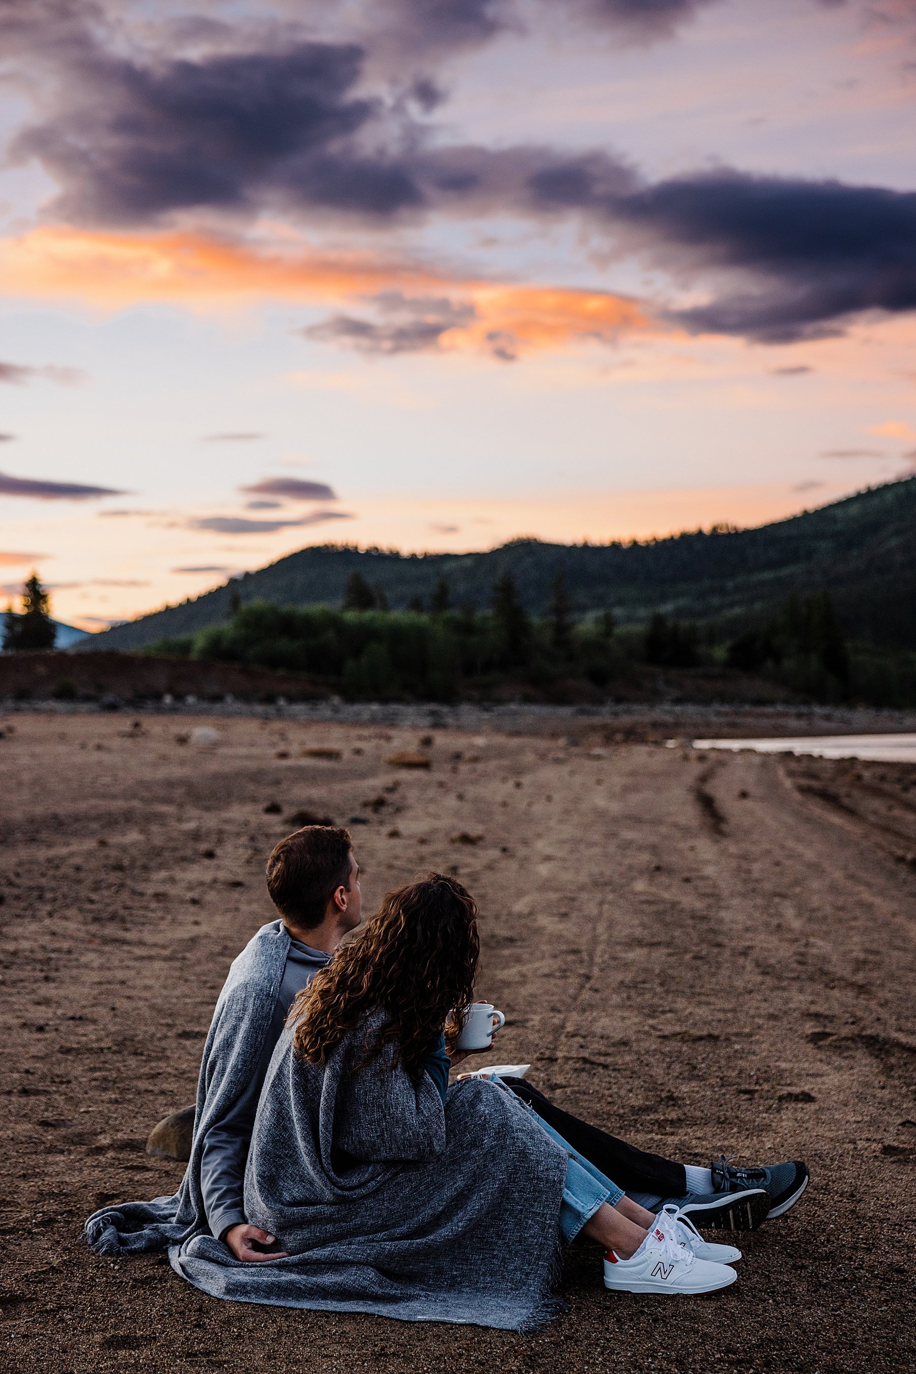
[[916,470],[916,0],[0,0],[0,585]]

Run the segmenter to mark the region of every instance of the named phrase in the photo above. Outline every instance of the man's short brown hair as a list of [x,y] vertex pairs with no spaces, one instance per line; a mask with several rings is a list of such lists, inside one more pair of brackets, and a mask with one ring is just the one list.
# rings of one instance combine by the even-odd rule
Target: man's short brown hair
[[286,922],[304,930],[321,925],[336,889],[349,890],[352,852],[350,831],[335,826],[304,826],[273,846],[268,892]]

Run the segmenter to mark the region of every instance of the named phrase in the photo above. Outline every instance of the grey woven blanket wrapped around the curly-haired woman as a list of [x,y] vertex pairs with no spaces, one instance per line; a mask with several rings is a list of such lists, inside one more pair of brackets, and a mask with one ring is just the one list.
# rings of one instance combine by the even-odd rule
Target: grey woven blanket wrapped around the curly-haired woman
[[306,1063],[280,1037],[244,1179],[249,1221],[288,1259],[240,1264],[211,1235],[173,1246],[173,1267],[217,1297],[415,1322],[526,1330],[558,1308],[566,1153],[494,1083],[466,1080],[445,1106],[415,1084],[397,1041],[358,1068],[369,1018]]

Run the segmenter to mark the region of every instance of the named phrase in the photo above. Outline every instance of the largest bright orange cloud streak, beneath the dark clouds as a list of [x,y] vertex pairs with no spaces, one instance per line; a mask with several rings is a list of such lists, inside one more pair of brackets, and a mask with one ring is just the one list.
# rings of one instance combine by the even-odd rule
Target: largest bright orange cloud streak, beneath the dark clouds
[[470,324],[444,333],[441,346],[450,350],[492,353],[505,335],[508,356],[658,330],[639,302],[607,291],[459,280],[368,254],[269,250],[191,231],[102,234],[70,227],[0,242],[1,294],[103,309],[146,301],[190,308],[251,300],[346,305],[391,290],[433,290],[474,305]]

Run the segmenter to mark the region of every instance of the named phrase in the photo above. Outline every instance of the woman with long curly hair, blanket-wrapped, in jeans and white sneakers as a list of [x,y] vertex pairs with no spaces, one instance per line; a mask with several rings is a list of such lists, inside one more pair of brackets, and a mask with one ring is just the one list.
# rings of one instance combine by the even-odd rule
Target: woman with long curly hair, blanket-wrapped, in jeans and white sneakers
[[560,1235],[599,1241],[614,1272],[648,1278],[659,1256],[672,1275],[710,1271],[681,1292],[731,1282],[677,1243],[677,1223],[647,1235],[656,1219],[511,1092],[448,1087],[442,1035],[471,1006],[477,962],[477,907],[453,878],[385,899],[299,993],[268,1069],[244,1210],[282,1249],[243,1265],[198,1238],[180,1272],[224,1297],[515,1330],[556,1307]]

